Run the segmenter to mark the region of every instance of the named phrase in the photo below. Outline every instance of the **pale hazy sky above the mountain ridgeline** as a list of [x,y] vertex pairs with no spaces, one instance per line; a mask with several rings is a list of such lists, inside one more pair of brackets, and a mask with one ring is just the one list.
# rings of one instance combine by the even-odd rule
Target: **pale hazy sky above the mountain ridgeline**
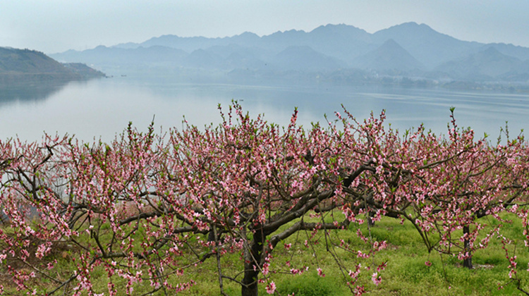
[[47,54],[160,35],[269,35],[345,23],[425,23],[458,39],[529,47],[528,0],[0,0],[0,46]]

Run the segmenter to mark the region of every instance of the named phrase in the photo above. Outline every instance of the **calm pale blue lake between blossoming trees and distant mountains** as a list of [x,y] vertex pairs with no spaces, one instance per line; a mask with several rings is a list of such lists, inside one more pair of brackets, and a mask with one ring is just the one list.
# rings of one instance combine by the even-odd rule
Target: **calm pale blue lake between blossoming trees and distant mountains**
[[450,106],[459,126],[472,127],[495,139],[509,121],[511,135],[529,128],[529,94],[456,92],[442,89],[317,85],[235,85],[182,82],[176,78],[116,77],[64,83],[28,83],[0,87],[0,139],[39,140],[45,132],[68,133],[84,141],[114,139],[129,121],[140,130],[155,116],[159,130],[181,128],[183,116],[193,125],[221,121],[217,104],[238,100],[245,111],[264,113],[269,122],[288,125],[294,107],[298,123],[334,119],[348,111],[363,120],[373,111],[387,111],[387,123],[405,130],[424,123],[446,134]]

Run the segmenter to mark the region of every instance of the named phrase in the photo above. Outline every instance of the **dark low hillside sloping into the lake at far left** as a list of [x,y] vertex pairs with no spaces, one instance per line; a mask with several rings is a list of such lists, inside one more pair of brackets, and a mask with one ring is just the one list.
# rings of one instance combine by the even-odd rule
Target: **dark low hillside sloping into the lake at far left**
[[0,47],[0,82],[20,80],[72,80],[103,73],[86,65],[63,65],[40,51]]

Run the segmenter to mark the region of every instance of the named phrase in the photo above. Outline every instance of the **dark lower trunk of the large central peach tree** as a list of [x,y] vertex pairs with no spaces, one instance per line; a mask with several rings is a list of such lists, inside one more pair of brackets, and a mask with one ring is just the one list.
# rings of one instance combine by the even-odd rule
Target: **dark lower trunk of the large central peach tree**
[[[241,290],[242,296],[257,296],[257,277],[259,276],[259,264],[266,236],[260,228],[256,228],[250,249],[244,249],[244,278]],[[254,266],[255,269],[254,269]]]

